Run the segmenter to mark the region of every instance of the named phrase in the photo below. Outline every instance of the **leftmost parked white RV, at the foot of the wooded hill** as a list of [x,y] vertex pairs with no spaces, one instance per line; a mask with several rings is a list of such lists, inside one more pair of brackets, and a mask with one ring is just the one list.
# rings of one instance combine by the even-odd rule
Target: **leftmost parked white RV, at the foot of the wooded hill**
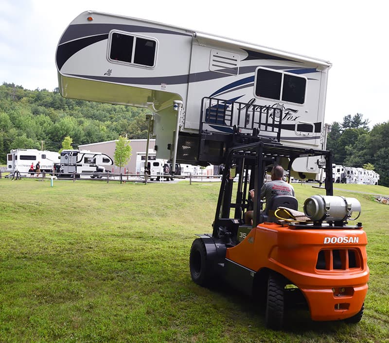
[[31,164],[35,170],[37,162],[40,162],[41,172],[53,173],[54,164],[59,162],[59,153],[49,150],[13,149],[7,154],[7,171],[18,171],[21,175],[27,175]]

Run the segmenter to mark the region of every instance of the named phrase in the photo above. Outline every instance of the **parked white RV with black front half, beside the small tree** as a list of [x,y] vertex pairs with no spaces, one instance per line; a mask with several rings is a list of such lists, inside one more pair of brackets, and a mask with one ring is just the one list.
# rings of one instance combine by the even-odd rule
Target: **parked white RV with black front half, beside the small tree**
[[70,177],[74,173],[90,175],[91,178],[101,178],[106,172],[106,166],[113,165],[113,160],[101,152],[89,150],[62,150],[60,163],[55,165],[58,177]]

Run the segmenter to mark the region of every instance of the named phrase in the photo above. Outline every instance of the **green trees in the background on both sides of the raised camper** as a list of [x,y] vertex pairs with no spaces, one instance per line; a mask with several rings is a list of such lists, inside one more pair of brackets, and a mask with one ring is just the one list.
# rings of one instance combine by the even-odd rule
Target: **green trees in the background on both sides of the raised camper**
[[[145,109],[63,98],[58,88],[34,91],[13,83],[0,86],[0,163],[16,148],[58,151],[65,137],[74,146],[116,140],[145,139]],[[379,184],[389,186],[389,121],[369,128],[363,114],[348,114],[332,123],[327,149],[334,163],[369,165],[380,174]]]

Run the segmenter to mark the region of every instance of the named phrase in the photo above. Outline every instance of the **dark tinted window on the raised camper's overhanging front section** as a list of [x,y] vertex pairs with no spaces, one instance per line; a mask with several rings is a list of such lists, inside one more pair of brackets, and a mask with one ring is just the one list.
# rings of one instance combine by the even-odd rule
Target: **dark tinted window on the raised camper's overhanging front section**
[[153,67],[156,51],[156,40],[118,32],[111,34],[109,59],[112,61]]

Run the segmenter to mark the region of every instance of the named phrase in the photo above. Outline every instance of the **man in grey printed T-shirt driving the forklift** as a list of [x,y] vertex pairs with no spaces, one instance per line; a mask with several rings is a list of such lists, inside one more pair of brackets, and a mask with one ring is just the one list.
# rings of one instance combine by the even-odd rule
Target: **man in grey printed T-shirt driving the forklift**
[[[270,202],[273,196],[295,196],[295,191],[289,183],[283,180],[283,167],[281,165],[275,165],[271,170],[271,181],[265,183],[261,188],[260,199],[265,198],[266,204]],[[254,199],[254,190],[248,192],[251,200]],[[245,224],[250,225],[252,223],[253,211],[247,211],[245,213]]]

